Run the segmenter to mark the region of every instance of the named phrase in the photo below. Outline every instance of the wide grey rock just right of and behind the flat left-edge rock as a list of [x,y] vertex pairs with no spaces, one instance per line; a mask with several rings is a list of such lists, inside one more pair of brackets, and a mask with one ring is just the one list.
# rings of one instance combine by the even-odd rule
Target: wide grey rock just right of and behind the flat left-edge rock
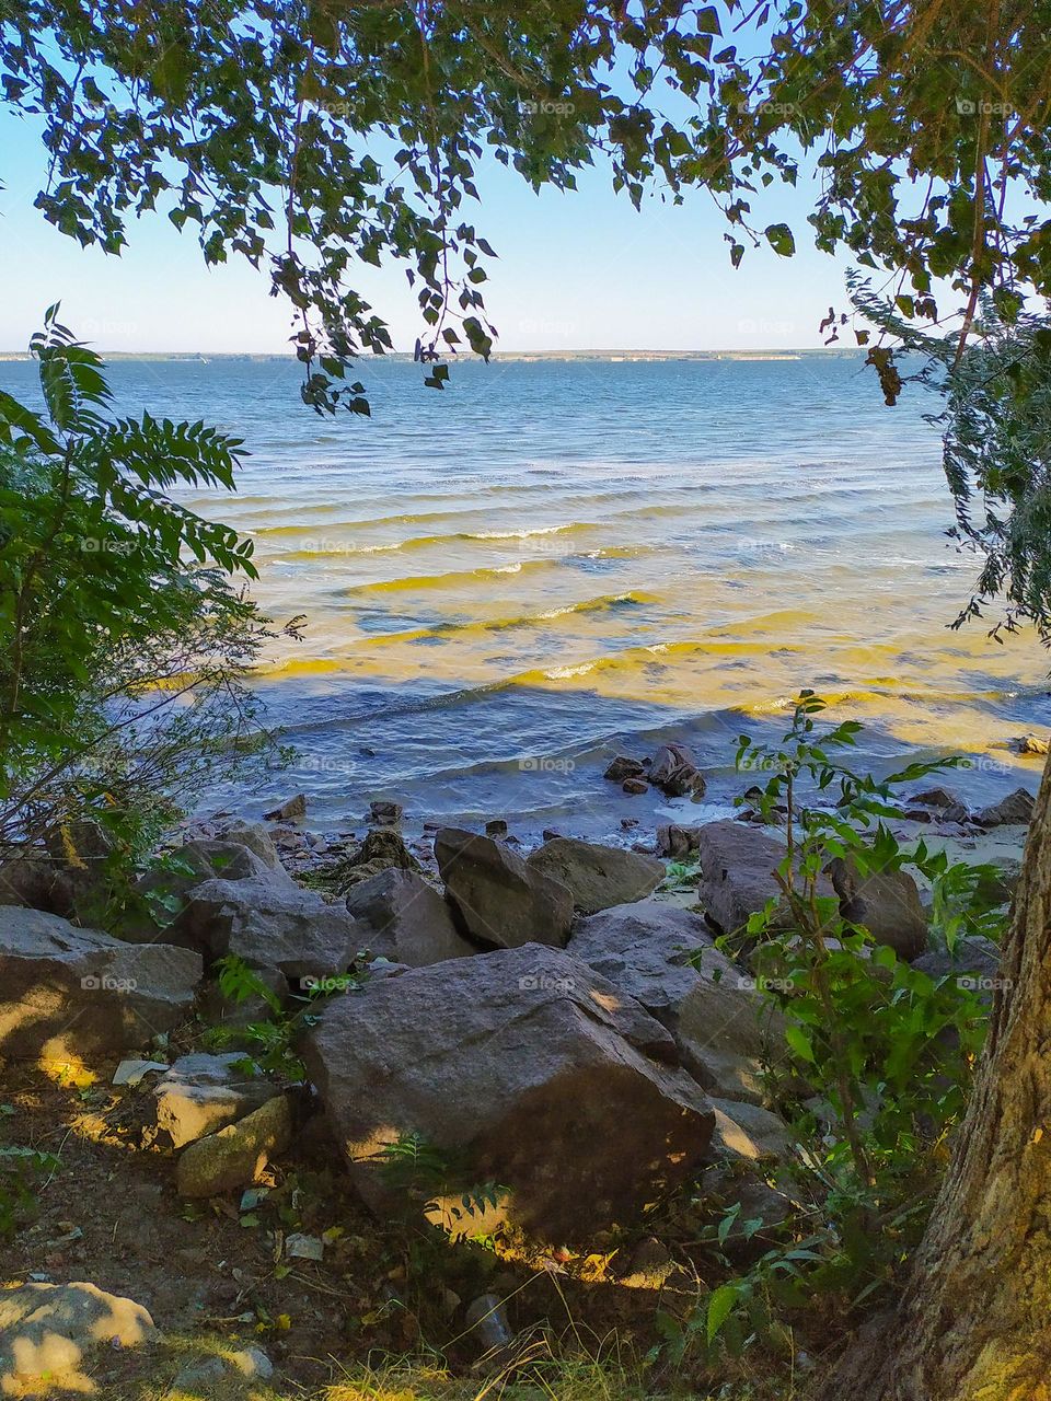
[[346,972],[359,947],[359,930],[342,905],[270,880],[205,881],[174,932],[209,961],[234,954],[251,968],[276,968],[293,986]]

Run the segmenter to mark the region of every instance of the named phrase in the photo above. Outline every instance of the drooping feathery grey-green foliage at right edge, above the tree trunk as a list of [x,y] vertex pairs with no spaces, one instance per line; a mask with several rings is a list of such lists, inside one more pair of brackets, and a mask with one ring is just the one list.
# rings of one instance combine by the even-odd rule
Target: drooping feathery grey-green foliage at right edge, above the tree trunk
[[926,335],[897,308],[853,280],[853,304],[905,352],[922,356],[912,380],[943,406],[928,415],[942,433],[943,465],[956,502],[949,532],[974,552],[978,580],[953,626],[982,618],[1003,598],[992,629],[1034,623],[1051,643],[1051,321],[1023,310],[1016,294],[980,298],[973,340]]

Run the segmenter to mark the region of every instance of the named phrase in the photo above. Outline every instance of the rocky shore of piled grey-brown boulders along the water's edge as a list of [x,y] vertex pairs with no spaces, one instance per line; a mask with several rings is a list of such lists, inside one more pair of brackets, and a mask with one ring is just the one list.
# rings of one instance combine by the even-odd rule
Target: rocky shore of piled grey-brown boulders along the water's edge
[[[681,745],[619,755],[607,782],[705,792]],[[406,839],[383,799],[359,829],[322,835],[294,794],[261,821],[185,829],[108,929],[83,918],[107,859],[104,834],[83,827],[0,870],[6,1094],[29,1068],[52,1082],[87,1070],[107,1087],[98,1142],[156,1164],[172,1201],[224,1202],[234,1220],[320,1154],[378,1222],[503,1231],[520,1258],[577,1272],[612,1245],[603,1278],[674,1289],[681,1261],[657,1250],[639,1264],[647,1203],[685,1182],[717,1202],[733,1182],[758,1241],[788,1210],[764,1171],[793,1152],[764,1093],[782,1014],[751,954],[717,943],[778,895],[785,855],[741,796],[734,818],[626,822],[619,845],[547,832],[527,849],[499,817]],[[898,827],[992,860],[1008,901],[1031,810],[1024,790],[971,811],[926,789]],[[832,863],[823,878],[900,958],[995,978],[988,940],[956,957],[929,944],[928,897],[905,870],[858,880]],[[336,1240],[286,1226],[272,1244],[322,1268],[342,1264]],[[77,1373],[92,1338],[132,1348],[154,1328],[156,1302],[76,1282],[62,1250],[45,1257],[0,1306],[4,1394],[56,1358]],[[457,1297],[450,1318],[471,1332],[485,1297]],[[123,1321],[99,1332],[107,1310]],[[45,1323],[64,1352],[20,1346]]]

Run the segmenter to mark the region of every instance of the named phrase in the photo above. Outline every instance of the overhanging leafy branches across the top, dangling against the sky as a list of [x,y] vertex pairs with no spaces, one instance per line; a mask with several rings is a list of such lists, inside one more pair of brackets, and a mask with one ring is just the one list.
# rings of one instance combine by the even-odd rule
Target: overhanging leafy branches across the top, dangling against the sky
[[790,256],[762,192],[814,165],[818,248],[898,279],[935,321],[937,279],[1051,287],[1048,223],[1016,192],[1051,177],[1043,8],[939,0],[186,0],[144,14],[76,0],[0,4],[0,91],[42,127],[36,205],[119,252],[161,210],[207,262],[245,256],[298,318],[304,398],[367,412],[348,368],[391,345],[348,284],[401,263],[418,359],[441,388],[458,347],[488,354],[496,256],[469,210],[488,161],[572,189],[596,160],[635,205],[706,189],[729,256]]

